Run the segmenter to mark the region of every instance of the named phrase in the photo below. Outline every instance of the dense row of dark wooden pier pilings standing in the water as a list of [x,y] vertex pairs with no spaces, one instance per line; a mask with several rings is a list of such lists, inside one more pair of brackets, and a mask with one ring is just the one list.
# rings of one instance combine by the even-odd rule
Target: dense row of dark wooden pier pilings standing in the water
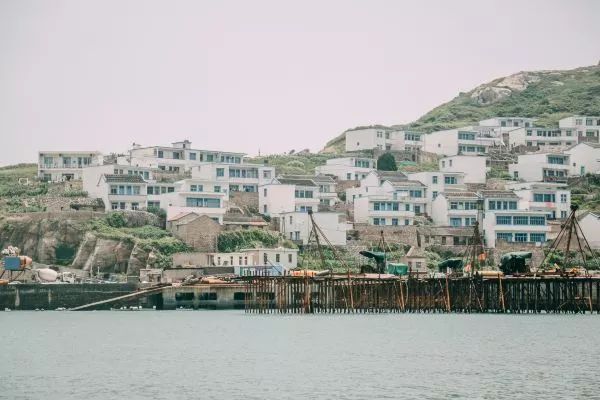
[[248,277],[247,313],[600,313],[600,278]]

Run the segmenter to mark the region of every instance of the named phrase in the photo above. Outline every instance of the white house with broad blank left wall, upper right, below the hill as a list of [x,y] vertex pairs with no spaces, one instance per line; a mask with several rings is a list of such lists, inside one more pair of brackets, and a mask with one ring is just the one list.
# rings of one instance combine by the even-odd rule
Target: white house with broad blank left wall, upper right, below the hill
[[508,171],[514,179],[527,182],[565,182],[569,176],[570,156],[561,153],[524,154]]

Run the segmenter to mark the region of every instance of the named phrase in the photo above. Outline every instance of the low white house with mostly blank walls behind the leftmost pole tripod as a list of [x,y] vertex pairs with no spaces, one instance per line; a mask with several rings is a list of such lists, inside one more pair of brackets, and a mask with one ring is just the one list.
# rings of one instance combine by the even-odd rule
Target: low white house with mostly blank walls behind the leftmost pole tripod
[[[313,213],[315,223],[325,234],[329,242],[334,246],[346,245],[346,232],[348,223],[346,216],[336,212],[318,212]],[[308,244],[311,237],[312,223],[310,216],[306,212],[289,212],[280,214],[279,231],[286,239],[299,242],[303,245]],[[315,238],[311,239],[314,243]],[[325,238],[319,234],[321,244],[325,243]]]

